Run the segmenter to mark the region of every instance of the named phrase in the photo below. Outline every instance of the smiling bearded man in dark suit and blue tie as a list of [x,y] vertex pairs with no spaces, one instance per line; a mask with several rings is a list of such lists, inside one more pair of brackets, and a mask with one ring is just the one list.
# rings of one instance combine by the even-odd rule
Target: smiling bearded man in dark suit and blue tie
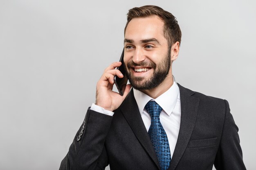
[[106,68],[60,169],[245,169],[228,102],[186,89],[172,76],[181,41],[175,17],[144,6],[130,9],[127,18],[130,84],[124,96],[113,92],[114,76],[123,77],[115,70],[121,63]]

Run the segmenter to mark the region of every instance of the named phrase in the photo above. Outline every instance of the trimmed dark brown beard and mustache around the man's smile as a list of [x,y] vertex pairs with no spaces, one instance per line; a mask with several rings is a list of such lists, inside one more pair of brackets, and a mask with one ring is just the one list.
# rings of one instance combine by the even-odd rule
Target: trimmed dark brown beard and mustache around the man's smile
[[[132,66],[151,67],[151,69],[154,69],[153,75],[148,79],[144,77],[135,77],[130,72],[130,69],[133,69]],[[171,68],[171,48],[168,49],[166,57],[164,57],[164,59],[162,59],[162,61],[160,61],[160,63],[157,65],[152,61],[143,61],[139,64],[130,61],[124,68],[126,76],[128,77],[128,80],[133,88],[137,90],[154,89],[164,81],[169,73]]]

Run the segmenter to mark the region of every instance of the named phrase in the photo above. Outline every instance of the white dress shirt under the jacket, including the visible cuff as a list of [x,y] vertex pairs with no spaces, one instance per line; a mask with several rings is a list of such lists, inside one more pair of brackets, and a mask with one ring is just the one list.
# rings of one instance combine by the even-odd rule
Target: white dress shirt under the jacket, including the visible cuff
[[[155,99],[139,90],[134,89],[133,92],[139,107],[139,113],[141,114],[141,118],[147,131],[151,124],[150,114],[146,111],[146,109],[144,109],[147,102],[150,100],[155,100],[155,102],[162,107],[162,111],[160,113],[160,122],[168,137],[172,157],[180,131],[180,89],[177,83],[174,81],[173,85],[166,92]],[[114,114],[112,111],[105,110],[95,104],[92,104],[91,109],[109,116],[113,116]]]

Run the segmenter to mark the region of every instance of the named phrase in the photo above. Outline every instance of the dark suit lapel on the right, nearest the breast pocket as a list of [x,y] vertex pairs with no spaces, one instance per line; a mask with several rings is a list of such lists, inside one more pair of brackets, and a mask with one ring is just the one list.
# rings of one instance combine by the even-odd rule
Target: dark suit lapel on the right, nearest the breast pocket
[[193,128],[195,126],[195,120],[198,111],[199,99],[193,97],[192,92],[179,85],[180,88],[180,103],[181,103],[181,121],[180,121],[180,131],[171,159],[170,170],[174,170],[179,163],[186,146],[189,143]]

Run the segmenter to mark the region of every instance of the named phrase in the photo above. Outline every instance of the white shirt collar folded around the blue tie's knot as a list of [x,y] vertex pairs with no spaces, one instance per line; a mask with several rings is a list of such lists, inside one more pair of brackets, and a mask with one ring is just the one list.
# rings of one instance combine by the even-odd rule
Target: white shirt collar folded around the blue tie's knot
[[134,89],[134,97],[137,102],[137,105],[139,107],[139,113],[142,114],[144,107],[148,103],[149,100],[155,100],[158,105],[162,107],[162,109],[168,114],[168,116],[171,115],[178,96],[179,96],[180,89],[175,81],[175,78],[173,77],[173,85],[163,94],[161,94],[157,98],[151,98],[150,96],[144,94],[143,92]]

